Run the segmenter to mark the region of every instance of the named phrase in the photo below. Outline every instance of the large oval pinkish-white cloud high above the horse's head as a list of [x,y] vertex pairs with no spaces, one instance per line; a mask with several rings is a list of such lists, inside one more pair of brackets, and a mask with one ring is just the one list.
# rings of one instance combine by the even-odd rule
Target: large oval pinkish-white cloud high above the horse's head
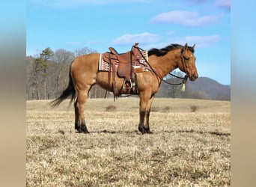
[[200,16],[198,12],[174,10],[154,16],[150,22],[175,23],[186,26],[204,26],[216,22],[218,16]]

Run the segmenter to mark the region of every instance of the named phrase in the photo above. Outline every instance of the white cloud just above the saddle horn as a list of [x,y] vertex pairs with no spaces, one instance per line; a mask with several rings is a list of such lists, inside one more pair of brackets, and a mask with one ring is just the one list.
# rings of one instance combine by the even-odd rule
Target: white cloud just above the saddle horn
[[135,42],[146,44],[146,43],[156,43],[158,40],[159,40],[158,35],[144,32],[141,34],[124,34],[123,36],[113,40],[112,44],[132,45]]

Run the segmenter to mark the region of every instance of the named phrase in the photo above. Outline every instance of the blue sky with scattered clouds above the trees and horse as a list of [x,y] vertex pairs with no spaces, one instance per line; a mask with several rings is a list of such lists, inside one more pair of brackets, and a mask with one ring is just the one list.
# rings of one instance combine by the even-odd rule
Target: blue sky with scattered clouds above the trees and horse
[[231,84],[230,0],[28,0],[26,55],[195,43],[199,76]]

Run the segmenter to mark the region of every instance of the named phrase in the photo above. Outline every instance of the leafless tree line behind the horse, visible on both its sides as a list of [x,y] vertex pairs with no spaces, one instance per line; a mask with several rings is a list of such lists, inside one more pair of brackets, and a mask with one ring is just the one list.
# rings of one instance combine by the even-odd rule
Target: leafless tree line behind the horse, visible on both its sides
[[[97,52],[88,47],[76,49],[74,52],[65,49],[52,51],[50,47],[43,49],[38,55],[27,56],[26,58],[26,99],[55,99],[67,87],[69,81],[70,63],[79,55],[85,55],[91,52]],[[176,76],[183,76],[183,73],[174,71]],[[166,76],[165,80],[171,83],[179,83],[180,79],[172,76]],[[195,98],[209,99],[207,94],[200,91],[182,92],[181,85],[167,85],[162,82],[156,97],[172,98]],[[89,93],[89,98],[103,98],[106,90],[94,85]]]

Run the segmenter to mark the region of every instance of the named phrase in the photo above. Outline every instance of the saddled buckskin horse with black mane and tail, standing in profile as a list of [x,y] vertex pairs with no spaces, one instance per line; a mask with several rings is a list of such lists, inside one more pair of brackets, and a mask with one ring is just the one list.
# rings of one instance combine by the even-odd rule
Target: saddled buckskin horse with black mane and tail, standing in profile
[[[194,48],[195,44],[188,46],[186,43],[184,46],[171,44],[162,49],[148,50],[147,63],[152,70],[135,73],[140,99],[138,130],[142,135],[152,133],[149,124],[150,108],[156,92],[159,91],[162,79],[177,68],[186,73],[191,81],[198,78]],[[85,123],[84,110],[91,86],[97,84],[106,91],[114,91],[112,79],[109,80],[108,72],[98,70],[99,60],[100,53],[90,53],[73,59],[70,64],[67,88],[51,103],[52,107],[55,107],[71,96],[70,103],[75,101],[75,129],[79,133],[89,133]],[[129,93],[129,90],[123,88],[124,78],[119,77],[117,73],[115,74],[115,82],[119,94]]]

